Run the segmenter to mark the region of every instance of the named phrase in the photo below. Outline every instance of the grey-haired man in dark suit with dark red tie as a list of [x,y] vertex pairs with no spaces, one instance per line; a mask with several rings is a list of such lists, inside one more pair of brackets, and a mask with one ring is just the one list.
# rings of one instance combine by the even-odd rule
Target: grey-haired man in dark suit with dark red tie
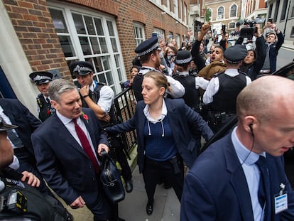
[[79,92],[67,80],[53,80],[49,96],[56,114],[31,136],[40,173],[73,209],[87,205],[94,220],[122,220],[117,204],[109,203],[99,180],[98,153],[109,148],[94,112],[82,109]]

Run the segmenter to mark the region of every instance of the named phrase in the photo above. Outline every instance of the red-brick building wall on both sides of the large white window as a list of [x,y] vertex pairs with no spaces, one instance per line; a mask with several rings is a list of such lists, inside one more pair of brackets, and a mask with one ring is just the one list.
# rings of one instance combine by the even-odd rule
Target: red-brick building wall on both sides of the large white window
[[[70,79],[70,71],[55,33],[47,2],[45,0],[3,1],[31,68],[34,71],[58,68],[62,77]],[[127,75],[131,68],[131,61],[136,56],[134,53],[136,48],[134,21],[144,25],[146,38],[151,36],[153,28],[163,29],[165,34],[169,31],[173,34],[178,33],[180,36],[187,33],[185,26],[175,23],[175,20],[168,14],[161,14],[161,9],[149,1],[63,0],[62,2],[65,1],[116,17]],[[185,0],[184,2],[187,6],[190,5],[190,1]],[[170,1],[170,10],[173,11],[173,1]]]

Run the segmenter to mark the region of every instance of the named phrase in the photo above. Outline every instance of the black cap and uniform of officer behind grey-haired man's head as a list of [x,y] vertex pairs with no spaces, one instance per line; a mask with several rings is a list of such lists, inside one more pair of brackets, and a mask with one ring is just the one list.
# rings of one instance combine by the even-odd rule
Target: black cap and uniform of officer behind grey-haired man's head
[[[53,79],[53,74],[46,71],[32,72],[30,75],[31,80],[35,82],[36,85],[45,84]],[[47,100],[46,100],[47,99]],[[55,114],[56,110],[52,106],[49,97],[45,99],[44,95],[39,94],[36,98],[38,104],[39,119],[44,122],[45,119]]]

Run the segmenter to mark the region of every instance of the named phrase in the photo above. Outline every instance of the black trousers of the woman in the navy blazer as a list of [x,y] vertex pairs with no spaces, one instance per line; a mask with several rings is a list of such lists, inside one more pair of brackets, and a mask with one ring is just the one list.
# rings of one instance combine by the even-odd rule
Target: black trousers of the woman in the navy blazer
[[143,180],[148,197],[148,204],[153,204],[156,185],[159,180],[166,180],[175,190],[178,200],[182,198],[184,185],[183,159],[178,156],[178,168],[180,173],[175,174],[173,164],[170,161],[153,161],[145,157],[143,168]]

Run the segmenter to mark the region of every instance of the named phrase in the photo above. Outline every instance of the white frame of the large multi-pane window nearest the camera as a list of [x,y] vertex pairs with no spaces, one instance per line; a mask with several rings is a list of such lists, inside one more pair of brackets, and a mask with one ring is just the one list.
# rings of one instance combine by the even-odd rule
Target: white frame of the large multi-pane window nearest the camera
[[[98,75],[104,75],[102,77],[106,79],[107,85],[109,85],[109,87],[111,87],[116,94],[121,92],[120,83],[126,81],[126,71],[125,71],[124,61],[123,61],[123,57],[121,53],[121,45],[119,43],[119,34],[117,32],[115,18],[107,14],[104,14],[102,12],[95,11],[92,9],[86,9],[81,6],[75,6],[73,4],[48,2],[48,6],[49,8],[62,11],[64,19],[65,19],[65,23],[67,25],[68,32],[70,33],[70,38],[72,40],[72,45],[73,45],[73,48],[75,49],[76,56],[70,57],[70,58],[67,57],[65,58],[65,60],[67,60],[67,62],[70,62],[71,60],[85,60],[85,59],[99,58],[99,57],[101,57],[103,60],[107,58],[109,69],[102,70],[100,72],[95,72],[94,77],[97,80],[99,80]],[[80,40],[79,40],[80,35],[77,34],[77,31],[75,29],[75,23],[72,18],[72,13],[81,14],[82,16],[90,16],[92,18],[99,18],[102,21],[102,27],[104,31],[108,53],[102,53],[99,55],[84,55],[83,54],[82,46],[80,45]],[[109,36],[107,21],[110,21],[113,26],[114,36]],[[60,36],[63,33],[57,33],[57,34],[58,36]],[[89,35],[85,35],[85,36],[89,36]],[[114,41],[116,42],[117,52],[114,52],[113,48],[111,47],[111,39],[114,39]],[[117,59],[117,62],[119,63],[118,67],[116,67],[116,58],[118,58]],[[110,76],[110,77],[107,77],[107,76]],[[112,84],[109,82],[109,80],[112,80]]]

